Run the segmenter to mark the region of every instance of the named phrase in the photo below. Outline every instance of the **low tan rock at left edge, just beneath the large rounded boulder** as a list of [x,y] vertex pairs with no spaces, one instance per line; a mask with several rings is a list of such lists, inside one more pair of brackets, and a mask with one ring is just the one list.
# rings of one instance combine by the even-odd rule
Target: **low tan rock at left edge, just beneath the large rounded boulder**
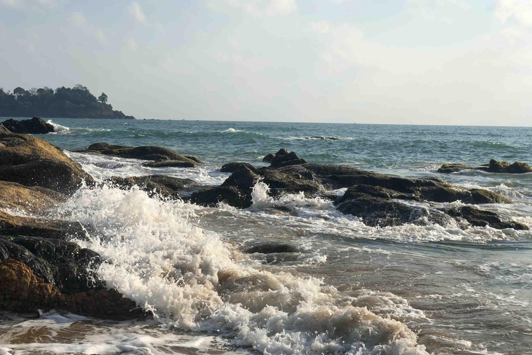
[[24,187],[16,182],[0,181],[0,209],[39,214],[67,200],[67,196],[44,187]]

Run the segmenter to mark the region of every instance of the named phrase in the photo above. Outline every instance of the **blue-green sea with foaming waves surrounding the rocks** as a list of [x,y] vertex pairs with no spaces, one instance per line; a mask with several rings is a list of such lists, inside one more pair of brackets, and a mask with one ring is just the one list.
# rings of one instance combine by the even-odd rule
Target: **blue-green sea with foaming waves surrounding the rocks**
[[[147,168],[67,152],[96,180],[157,173],[218,186],[230,175],[219,171],[223,164],[266,166],[265,155],[286,148],[309,162],[489,189],[515,204],[482,208],[532,227],[532,173],[436,172],[445,162],[491,158],[532,164],[532,128],[51,123],[57,132],[41,137],[67,150],[157,145],[206,163]],[[531,231],[369,227],[325,198],[274,199],[267,189],[258,182],[249,209],[162,201],[135,188],[80,189],[50,216],[105,236],[79,243],[108,261],[96,270],[107,286],[154,316],[116,322],[59,311],[38,319],[4,314],[0,354],[532,354]],[[242,253],[258,241],[292,243],[299,252]]]

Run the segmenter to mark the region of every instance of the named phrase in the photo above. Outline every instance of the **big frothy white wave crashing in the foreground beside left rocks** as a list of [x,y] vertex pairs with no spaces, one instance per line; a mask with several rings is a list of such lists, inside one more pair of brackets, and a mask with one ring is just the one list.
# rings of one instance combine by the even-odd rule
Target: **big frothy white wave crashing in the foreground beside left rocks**
[[405,324],[356,306],[355,297],[258,269],[195,227],[196,208],[103,187],[80,189],[57,214],[103,234],[79,242],[105,260],[98,275],[159,322],[231,333],[263,354],[427,354]]

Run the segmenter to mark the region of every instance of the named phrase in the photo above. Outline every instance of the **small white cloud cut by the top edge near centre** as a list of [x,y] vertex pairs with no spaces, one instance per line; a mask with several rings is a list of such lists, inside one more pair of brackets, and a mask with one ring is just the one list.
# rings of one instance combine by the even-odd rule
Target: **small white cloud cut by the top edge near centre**
[[212,10],[225,12],[227,7],[256,17],[288,15],[297,11],[296,0],[211,0]]

